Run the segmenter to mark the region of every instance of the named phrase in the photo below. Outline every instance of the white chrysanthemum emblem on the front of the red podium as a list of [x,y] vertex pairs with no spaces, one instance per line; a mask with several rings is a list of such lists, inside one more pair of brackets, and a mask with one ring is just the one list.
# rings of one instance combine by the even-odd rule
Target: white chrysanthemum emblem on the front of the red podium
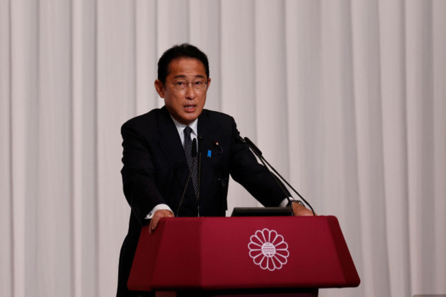
[[248,243],[249,256],[263,270],[279,270],[287,263],[288,243],[275,230],[257,230]]

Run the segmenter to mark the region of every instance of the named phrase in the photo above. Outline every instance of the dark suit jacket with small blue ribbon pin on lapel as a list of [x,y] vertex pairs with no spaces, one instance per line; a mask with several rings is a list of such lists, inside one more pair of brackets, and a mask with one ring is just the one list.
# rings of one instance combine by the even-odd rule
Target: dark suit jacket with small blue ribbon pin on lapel
[[[167,204],[175,215],[224,216],[229,174],[264,206],[278,206],[285,199],[268,171],[248,146],[239,141],[233,117],[203,110],[198,118],[202,134],[200,200],[192,182],[180,209],[189,167],[178,130],[165,107],[130,119],[121,128],[124,194],[132,209],[128,235],[119,259],[119,286],[127,282],[145,216],[157,204]],[[217,145],[218,143],[218,145]],[[209,156],[210,155],[210,156]],[[119,291],[119,289],[118,289]],[[119,295],[119,294],[118,294]]]

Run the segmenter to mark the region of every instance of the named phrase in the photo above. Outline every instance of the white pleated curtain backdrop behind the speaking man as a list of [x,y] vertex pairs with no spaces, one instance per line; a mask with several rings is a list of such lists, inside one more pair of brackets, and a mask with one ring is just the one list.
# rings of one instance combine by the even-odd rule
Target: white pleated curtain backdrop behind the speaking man
[[[320,296],[446,294],[445,16],[443,0],[0,0],[0,296],[115,294],[119,129],[163,105],[156,62],[183,42],[209,56],[207,108],[338,217],[362,283]],[[257,205],[235,182],[229,202]]]

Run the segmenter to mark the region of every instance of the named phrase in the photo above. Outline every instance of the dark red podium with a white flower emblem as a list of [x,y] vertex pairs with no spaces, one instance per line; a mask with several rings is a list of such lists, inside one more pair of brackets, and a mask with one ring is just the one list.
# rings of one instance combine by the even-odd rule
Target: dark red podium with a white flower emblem
[[141,231],[128,280],[157,296],[317,296],[359,284],[333,216],[162,219]]

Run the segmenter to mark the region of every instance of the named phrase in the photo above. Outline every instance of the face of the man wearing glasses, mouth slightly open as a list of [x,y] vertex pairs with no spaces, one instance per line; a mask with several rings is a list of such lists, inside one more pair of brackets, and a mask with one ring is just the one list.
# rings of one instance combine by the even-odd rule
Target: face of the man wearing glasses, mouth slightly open
[[155,88],[169,113],[185,125],[201,114],[206,102],[207,78],[204,65],[194,58],[178,58],[169,63],[169,74],[165,84],[155,81]]

